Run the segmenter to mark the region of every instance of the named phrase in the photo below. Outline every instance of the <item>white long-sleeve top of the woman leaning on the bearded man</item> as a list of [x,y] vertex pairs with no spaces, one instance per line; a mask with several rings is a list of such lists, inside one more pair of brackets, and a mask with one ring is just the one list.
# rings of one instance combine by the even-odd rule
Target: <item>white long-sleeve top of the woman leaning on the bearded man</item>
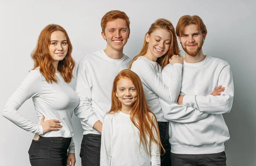
[[180,92],[182,64],[174,64],[172,80],[168,86],[162,82],[162,68],[157,62],[153,62],[144,56],[140,56],[133,62],[131,70],[140,76],[145,97],[150,110],[156,115],[157,121],[168,121],[163,117],[159,98],[169,104],[177,103]]

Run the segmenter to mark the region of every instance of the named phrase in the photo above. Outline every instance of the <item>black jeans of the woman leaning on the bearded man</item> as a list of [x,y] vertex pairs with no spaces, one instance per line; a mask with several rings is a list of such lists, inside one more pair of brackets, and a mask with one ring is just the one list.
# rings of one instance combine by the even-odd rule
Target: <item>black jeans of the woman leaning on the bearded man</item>
[[[158,127],[160,131],[160,139],[163,148],[166,153],[163,154],[161,150],[161,166],[172,166],[171,163],[171,144],[169,143],[169,122],[158,122]],[[174,165],[176,166],[176,165]]]

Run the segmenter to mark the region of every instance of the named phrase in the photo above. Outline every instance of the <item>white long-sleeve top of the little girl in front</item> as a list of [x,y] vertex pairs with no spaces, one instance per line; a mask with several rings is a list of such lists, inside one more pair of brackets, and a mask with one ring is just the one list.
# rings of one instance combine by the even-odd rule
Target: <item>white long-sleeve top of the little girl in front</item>
[[159,147],[148,137],[147,141],[148,152],[143,141],[139,149],[140,131],[130,115],[121,111],[107,114],[102,126],[100,166],[160,166]]

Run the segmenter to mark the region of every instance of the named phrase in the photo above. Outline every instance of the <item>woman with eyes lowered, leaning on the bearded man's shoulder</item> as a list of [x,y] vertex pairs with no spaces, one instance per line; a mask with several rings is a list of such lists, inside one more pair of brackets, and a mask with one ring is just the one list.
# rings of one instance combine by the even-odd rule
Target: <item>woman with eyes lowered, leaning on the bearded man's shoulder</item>
[[[131,61],[129,69],[140,76],[150,110],[157,117],[160,138],[166,154],[161,156],[161,166],[171,163],[169,143],[169,122],[163,117],[159,98],[166,103],[177,102],[180,93],[183,58],[178,56],[179,47],[172,23],[166,19],[156,20],[145,34],[140,53]],[[173,64],[172,82],[165,86],[162,69]]]

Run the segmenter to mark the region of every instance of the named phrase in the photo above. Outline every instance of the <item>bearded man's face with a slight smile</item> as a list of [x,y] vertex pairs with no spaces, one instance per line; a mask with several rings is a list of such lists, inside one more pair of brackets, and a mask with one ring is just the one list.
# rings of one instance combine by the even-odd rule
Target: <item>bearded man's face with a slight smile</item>
[[179,37],[183,50],[190,56],[197,56],[202,51],[206,34],[197,30],[197,25],[190,24],[184,28],[184,34]]

